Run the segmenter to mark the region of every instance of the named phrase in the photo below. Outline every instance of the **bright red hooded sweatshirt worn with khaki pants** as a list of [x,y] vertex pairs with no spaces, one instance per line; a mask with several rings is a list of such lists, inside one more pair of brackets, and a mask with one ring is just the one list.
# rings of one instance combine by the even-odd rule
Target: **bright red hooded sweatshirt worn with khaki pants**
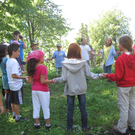
[[135,55],[123,53],[115,63],[115,73],[107,74],[107,78],[116,81],[119,87],[135,86]]

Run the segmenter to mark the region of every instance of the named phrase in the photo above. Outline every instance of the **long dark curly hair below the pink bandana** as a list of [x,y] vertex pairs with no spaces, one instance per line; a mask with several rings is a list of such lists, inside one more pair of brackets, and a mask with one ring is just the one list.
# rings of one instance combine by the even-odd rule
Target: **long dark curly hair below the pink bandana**
[[27,62],[27,74],[28,76],[32,76],[35,74],[35,67],[36,67],[36,64],[38,63],[39,61],[37,61],[35,58],[33,59],[30,59],[28,62]]

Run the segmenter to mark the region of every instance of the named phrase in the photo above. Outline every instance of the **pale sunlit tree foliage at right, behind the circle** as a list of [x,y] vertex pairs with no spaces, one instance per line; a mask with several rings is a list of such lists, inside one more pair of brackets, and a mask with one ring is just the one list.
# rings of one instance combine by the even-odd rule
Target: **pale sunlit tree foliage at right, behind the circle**
[[[90,45],[98,52],[103,49],[106,39],[111,37],[115,49],[118,50],[118,38],[125,34],[131,36],[129,21],[130,18],[126,17],[117,7],[101,13],[98,19],[91,21],[88,25]],[[81,24],[79,33],[75,38],[76,42],[80,43],[79,40],[82,37],[88,39],[84,24]],[[96,63],[100,64],[101,62],[102,58],[96,57]]]

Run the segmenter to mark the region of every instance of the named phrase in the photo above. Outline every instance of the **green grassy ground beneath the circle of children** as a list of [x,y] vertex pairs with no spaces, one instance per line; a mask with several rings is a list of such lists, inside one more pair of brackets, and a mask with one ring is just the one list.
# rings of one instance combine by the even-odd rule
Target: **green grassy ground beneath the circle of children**
[[[102,69],[93,69],[93,72],[102,72]],[[48,74],[48,78],[55,77],[55,72]],[[84,133],[81,129],[81,113],[79,103],[75,100],[74,126],[71,133],[65,131],[67,100],[63,95],[64,84],[49,85],[50,89],[50,131],[45,129],[45,120],[42,110],[40,111],[41,128],[34,129],[32,118],[33,107],[31,98],[31,85],[24,85],[24,104],[21,106],[22,117],[29,121],[15,123],[12,115],[4,113],[0,115],[0,135],[110,135],[112,126],[117,124],[119,111],[117,107],[117,90],[115,82],[107,80],[90,80],[87,83],[86,109],[88,113],[88,125],[90,130]]]

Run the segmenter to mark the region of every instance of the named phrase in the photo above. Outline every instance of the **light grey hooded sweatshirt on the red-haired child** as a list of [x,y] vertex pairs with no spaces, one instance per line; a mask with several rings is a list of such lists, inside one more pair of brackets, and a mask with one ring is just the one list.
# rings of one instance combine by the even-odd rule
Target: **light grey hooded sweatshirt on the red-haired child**
[[62,62],[62,77],[56,78],[58,83],[65,82],[64,95],[82,95],[86,93],[86,78],[92,79],[102,77],[102,74],[90,72],[86,60],[68,59]]

